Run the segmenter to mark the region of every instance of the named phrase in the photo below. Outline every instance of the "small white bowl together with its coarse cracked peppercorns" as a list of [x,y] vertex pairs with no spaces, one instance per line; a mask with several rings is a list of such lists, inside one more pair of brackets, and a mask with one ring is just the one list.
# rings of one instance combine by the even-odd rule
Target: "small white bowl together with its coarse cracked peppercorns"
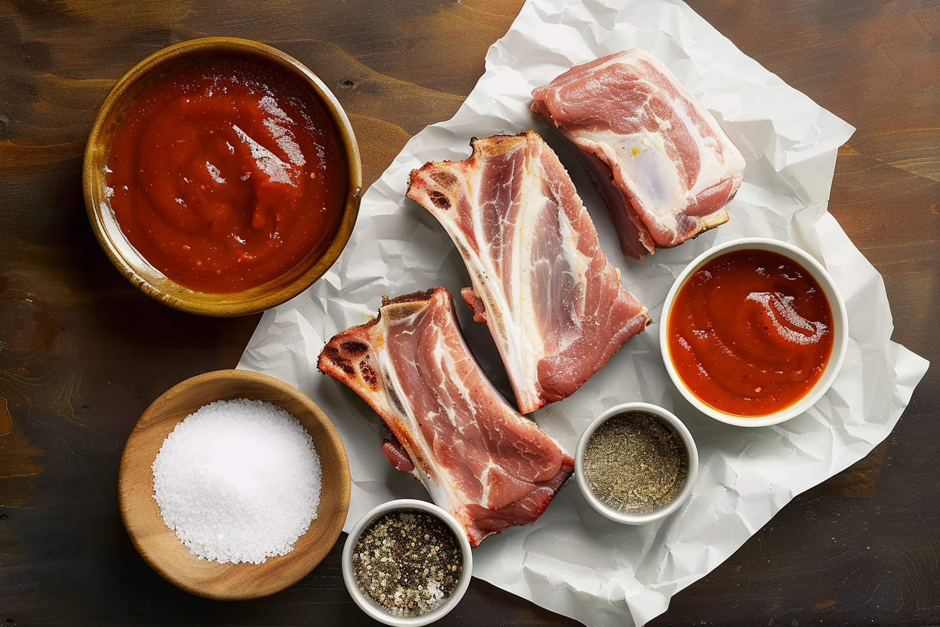
[[369,511],[343,549],[352,600],[386,625],[417,627],[444,617],[470,585],[473,554],[444,509],[410,498]]

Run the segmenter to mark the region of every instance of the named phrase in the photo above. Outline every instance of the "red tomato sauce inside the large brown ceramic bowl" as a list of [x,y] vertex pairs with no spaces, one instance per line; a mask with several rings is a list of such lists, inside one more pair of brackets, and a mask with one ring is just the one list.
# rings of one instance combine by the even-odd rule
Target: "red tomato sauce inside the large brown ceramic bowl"
[[121,230],[154,268],[191,290],[229,293],[329,246],[347,170],[333,123],[299,81],[209,57],[133,104],[105,177]]

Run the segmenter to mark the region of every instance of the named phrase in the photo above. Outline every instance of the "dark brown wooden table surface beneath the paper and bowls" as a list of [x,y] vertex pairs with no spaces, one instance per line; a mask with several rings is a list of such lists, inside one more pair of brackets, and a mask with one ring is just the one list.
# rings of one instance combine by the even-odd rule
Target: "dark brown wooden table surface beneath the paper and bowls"
[[[245,603],[186,594],[133,549],[116,487],[135,420],[171,385],[234,367],[259,316],[183,314],[118,274],[86,219],[86,136],[144,56],[207,35],[259,39],[333,88],[368,183],[457,110],[521,4],[0,0],[0,623],[366,621],[338,544],[298,585]],[[894,339],[940,357],[940,1],[691,4],[857,127],[830,211],[885,277]],[[940,624],[937,371],[884,444],[794,499],[653,623]],[[481,581],[445,622],[573,624]]]

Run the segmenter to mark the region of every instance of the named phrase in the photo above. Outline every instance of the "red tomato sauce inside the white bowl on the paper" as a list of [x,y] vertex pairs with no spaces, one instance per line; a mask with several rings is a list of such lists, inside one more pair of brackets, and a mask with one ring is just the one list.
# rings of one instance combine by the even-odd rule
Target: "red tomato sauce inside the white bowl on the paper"
[[682,381],[730,415],[790,407],[832,353],[832,309],[822,288],[771,251],[732,251],[706,263],[682,284],[666,323]]

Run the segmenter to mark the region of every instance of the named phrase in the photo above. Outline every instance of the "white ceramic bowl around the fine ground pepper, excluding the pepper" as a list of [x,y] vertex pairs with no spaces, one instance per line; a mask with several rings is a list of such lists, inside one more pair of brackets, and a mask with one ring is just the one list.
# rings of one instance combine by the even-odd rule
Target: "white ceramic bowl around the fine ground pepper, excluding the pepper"
[[[618,509],[613,509],[606,505],[591,491],[590,487],[587,485],[587,478],[585,478],[584,474],[585,448],[587,448],[587,441],[590,440],[590,436],[593,435],[594,431],[597,431],[597,428],[608,418],[628,412],[643,412],[644,414],[655,415],[666,423],[666,425],[672,427],[672,429],[679,434],[680,439],[682,439],[682,445],[685,447],[685,453],[689,462],[688,474],[685,477],[685,483],[682,485],[679,494],[676,494],[675,497],[663,507],[648,513],[641,514],[619,511]],[[581,488],[581,493],[585,495],[587,502],[590,503],[591,507],[597,509],[610,520],[625,525],[646,525],[647,523],[666,518],[666,516],[673,511],[679,509],[682,503],[692,494],[692,488],[695,485],[697,475],[698,449],[695,440],[692,439],[692,433],[689,432],[685,425],[682,424],[682,420],[676,417],[676,415],[658,405],[651,405],[647,402],[627,402],[615,405],[602,415],[594,418],[594,420],[587,425],[587,429],[584,433],[581,434],[581,439],[578,440],[578,449],[574,456],[574,476],[577,478],[578,487]]]

